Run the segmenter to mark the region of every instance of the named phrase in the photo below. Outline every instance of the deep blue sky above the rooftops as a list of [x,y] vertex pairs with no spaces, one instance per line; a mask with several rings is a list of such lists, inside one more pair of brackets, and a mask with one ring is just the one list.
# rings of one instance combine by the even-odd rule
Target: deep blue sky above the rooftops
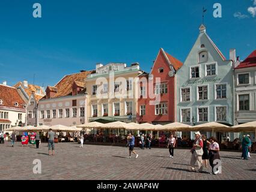
[[[39,2],[42,18],[32,17]],[[207,34],[228,58],[231,48],[245,59],[256,49],[252,0],[1,0],[0,82],[22,80],[55,85],[65,74],[93,70],[97,62],[139,62],[150,71],[160,47],[184,62],[198,36],[202,8]],[[254,17],[253,17],[254,16]]]

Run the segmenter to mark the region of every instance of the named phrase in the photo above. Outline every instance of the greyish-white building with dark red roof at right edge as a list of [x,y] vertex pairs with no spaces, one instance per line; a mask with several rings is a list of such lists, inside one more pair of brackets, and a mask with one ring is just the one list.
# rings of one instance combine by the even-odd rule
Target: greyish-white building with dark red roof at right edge
[[234,70],[236,125],[256,121],[256,50]]

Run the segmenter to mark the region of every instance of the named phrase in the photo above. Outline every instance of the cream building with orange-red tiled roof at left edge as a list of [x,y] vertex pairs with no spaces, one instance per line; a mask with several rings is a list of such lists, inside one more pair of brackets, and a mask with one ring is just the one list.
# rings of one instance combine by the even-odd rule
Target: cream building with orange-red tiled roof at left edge
[[25,125],[26,103],[17,88],[0,84],[0,131]]

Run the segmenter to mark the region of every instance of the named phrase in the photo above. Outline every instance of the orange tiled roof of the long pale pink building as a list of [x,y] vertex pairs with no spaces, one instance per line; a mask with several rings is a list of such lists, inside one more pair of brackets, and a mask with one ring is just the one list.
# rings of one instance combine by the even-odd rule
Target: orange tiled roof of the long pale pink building
[[56,94],[52,98],[64,97],[72,94],[73,82],[76,82],[78,86],[85,88],[85,79],[88,74],[94,73],[95,71],[82,71],[80,73],[69,74],[64,76],[54,87]]

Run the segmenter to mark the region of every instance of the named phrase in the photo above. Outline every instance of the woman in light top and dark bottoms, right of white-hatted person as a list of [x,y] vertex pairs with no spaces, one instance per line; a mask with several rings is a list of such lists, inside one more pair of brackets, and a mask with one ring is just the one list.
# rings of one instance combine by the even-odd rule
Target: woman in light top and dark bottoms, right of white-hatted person
[[214,163],[215,160],[221,160],[221,157],[219,156],[219,143],[217,143],[215,137],[210,137],[209,162],[210,166],[212,167],[212,173],[214,175],[219,173],[219,169],[214,170],[214,167],[216,166],[216,164]]

